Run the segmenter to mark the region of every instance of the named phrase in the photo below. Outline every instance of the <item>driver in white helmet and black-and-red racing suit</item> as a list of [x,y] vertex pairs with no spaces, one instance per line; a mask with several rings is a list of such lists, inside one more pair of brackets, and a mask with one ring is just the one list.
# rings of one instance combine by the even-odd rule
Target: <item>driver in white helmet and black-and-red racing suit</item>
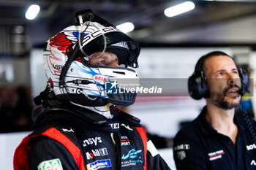
[[140,47],[91,9],[50,38],[43,51],[48,84],[34,98],[36,130],[15,150],[14,169],[170,169],[140,120],[116,106],[136,93],[107,93],[117,79],[138,79]]

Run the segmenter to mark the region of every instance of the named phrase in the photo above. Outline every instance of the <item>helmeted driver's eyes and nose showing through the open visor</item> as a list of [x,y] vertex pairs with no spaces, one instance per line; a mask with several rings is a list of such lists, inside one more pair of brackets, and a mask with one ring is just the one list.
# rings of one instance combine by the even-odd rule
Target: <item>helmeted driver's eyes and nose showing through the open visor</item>
[[[93,66],[113,66],[119,67],[118,57],[114,53],[105,52],[101,55],[102,52],[97,52],[91,55],[89,63]],[[99,57],[99,55],[101,55]]]

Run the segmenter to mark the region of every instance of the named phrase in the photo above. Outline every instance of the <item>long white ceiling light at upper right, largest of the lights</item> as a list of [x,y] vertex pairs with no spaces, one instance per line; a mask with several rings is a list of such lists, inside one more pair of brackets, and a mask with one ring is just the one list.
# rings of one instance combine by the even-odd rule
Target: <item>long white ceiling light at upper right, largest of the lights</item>
[[173,17],[180,15],[181,13],[188,12],[194,8],[195,4],[192,1],[186,1],[182,4],[177,4],[176,6],[165,9],[165,15],[167,17]]

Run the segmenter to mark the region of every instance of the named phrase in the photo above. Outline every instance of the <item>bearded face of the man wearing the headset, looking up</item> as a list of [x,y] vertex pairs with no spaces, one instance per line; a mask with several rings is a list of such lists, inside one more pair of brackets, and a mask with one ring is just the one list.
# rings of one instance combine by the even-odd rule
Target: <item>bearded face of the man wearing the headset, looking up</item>
[[241,101],[241,80],[232,58],[221,55],[206,58],[205,75],[211,103],[222,109],[238,107]]

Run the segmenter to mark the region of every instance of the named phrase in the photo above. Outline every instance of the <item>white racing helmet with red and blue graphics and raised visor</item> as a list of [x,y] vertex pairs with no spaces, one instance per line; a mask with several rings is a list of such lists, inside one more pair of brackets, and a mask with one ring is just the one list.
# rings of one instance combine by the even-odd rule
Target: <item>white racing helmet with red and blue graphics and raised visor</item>
[[[46,42],[43,60],[48,88],[61,102],[89,107],[133,104],[136,93],[105,93],[105,82],[113,78],[138,79],[138,74],[131,69],[138,67],[138,43],[90,9],[78,12],[76,19],[79,23]],[[105,51],[115,53],[121,67],[89,64],[92,54]]]

